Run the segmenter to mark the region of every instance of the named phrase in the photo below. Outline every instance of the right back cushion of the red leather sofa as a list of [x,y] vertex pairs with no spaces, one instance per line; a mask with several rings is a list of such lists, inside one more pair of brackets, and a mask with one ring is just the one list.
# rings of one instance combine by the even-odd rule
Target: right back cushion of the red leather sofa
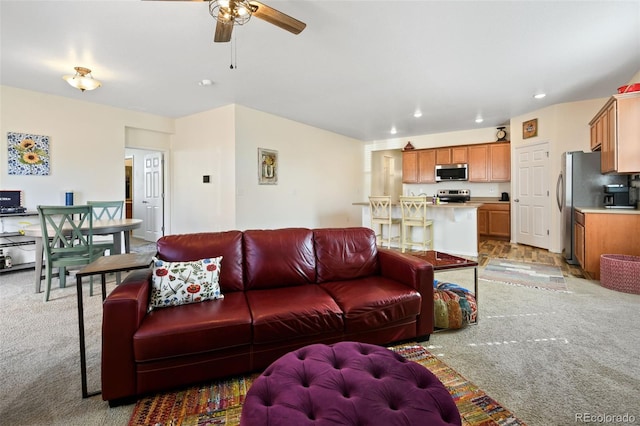
[[318,282],[377,275],[376,236],[369,228],[314,229]]

